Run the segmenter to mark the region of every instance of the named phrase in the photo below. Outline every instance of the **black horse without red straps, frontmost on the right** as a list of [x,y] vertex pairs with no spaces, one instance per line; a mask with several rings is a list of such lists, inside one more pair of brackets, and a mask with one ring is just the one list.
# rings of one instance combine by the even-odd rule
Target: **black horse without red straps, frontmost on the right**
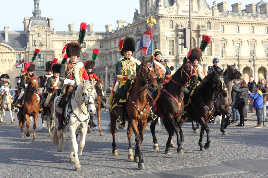
[[[194,93],[191,96],[191,103],[185,108],[186,114],[182,116],[183,121],[178,123],[182,142],[184,142],[184,136],[181,127],[188,118],[197,121],[202,126],[198,143],[200,151],[208,150],[210,145],[210,129],[207,124],[215,111],[214,100],[219,97],[226,98],[228,95],[224,83],[225,76],[222,72],[223,70],[216,70],[208,74],[201,84],[195,88]],[[207,133],[207,142],[205,143],[205,146],[202,144],[204,131]]]

